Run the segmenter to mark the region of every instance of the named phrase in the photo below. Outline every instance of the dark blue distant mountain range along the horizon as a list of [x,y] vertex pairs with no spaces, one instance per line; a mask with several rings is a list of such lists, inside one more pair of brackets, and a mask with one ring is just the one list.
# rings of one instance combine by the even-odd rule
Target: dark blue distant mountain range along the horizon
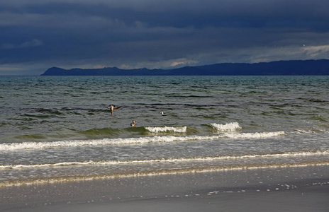
[[178,69],[60,69],[52,67],[41,76],[275,76],[329,75],[329,59],[272,61],[255,64],[223,63]]

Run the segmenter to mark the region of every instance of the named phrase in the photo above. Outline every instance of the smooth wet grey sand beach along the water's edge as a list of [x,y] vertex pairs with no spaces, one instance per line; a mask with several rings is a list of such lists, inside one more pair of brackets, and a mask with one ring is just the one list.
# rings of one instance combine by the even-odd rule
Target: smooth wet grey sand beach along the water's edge
[[329,166],[0,188],[0,211],[328,211]]

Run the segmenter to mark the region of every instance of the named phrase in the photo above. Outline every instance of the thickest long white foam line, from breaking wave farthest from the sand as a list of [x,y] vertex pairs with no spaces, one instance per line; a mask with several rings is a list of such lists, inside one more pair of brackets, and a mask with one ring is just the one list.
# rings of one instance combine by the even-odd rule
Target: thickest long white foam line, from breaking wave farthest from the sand
[[19,151],[22,149],[41,148],[70,148],[79,146],[103,146],[103,145],[124,145],[143,144],[173,141],[206,141],[216,139],[266,139],[284,135],[284,131],[262,132],[262,133],[224,133],[213,136],[144,136],[140,138],[119,138],[119,139],[96,139],[96,140],[69,140],[54,142],[23,142],[23,143],[1,143],[0,151]]

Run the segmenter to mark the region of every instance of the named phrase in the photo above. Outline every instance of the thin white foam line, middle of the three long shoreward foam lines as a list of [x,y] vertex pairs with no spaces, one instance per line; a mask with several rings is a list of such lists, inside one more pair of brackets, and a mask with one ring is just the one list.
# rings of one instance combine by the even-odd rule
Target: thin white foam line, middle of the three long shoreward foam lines
[[329,151],[317,152],[291,152],[264,155],[223,155],[214,157],[199,158],[169,158],[155,160],[108,160],[108,161],[84,161],[84,162],[62,162],[54,164],[31,164],[31,165],[0,165],[0,169],[17,169],[17,168],[42,168],[42,167],[64,167],[72,165],[121,165],[121,164],[137,164],[137,163],[189,163],[194,161],[210,161],[210,160],[239,160],[245,158],[284,158],[299,156],[329,155]]

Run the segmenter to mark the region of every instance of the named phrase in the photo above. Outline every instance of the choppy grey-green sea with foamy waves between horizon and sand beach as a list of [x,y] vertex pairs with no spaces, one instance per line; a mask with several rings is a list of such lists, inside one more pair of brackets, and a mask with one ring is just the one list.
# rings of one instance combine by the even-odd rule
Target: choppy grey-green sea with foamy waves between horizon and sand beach
[[329,76],[2,76],[0,187],[329,165],[328,94]]

